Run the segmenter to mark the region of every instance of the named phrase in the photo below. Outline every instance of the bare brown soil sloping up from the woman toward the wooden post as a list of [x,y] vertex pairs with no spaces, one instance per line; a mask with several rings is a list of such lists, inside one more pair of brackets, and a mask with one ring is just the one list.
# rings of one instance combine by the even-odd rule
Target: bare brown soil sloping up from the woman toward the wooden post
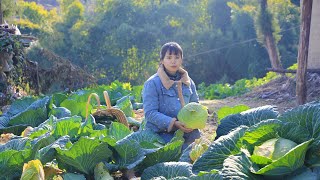
[[[209,118],[207,126],[202,130],[202,134],[209,140],[215,137],[217,128],[217,112],[221,107],[244,104],[250,108],[256,108],[264,105],[276,106],[279,113],[288,109],[297,107],[295,94],[295,77],[282,76],[263,86],[254,88],[250,92],[241,96],[228,97],[216,100],[201,100],[200,103],[207,106],[209,111],[213,112],[213,117]],[[307,74],[307,102],[320,100],[320,75],[313,73]]]

